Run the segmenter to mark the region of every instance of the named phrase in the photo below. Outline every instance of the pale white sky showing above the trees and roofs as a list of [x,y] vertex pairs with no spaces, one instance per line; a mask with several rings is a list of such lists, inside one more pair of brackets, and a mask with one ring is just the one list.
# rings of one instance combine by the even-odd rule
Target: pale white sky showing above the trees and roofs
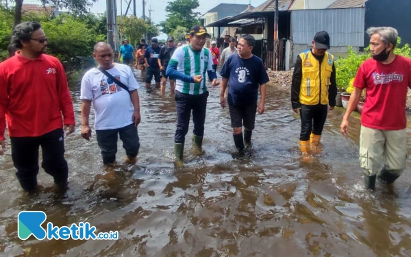
[[[125,0],[116,0],[117,1],[117,11],[118,14],[121,14],[121,2],[123,3],[123,14],[125,14],[125,10],[127,9],[127,2]],[[151,5],[151,19],[154,23],[160,23],[160,21],[164,21],[166,19],[166,5],[169,1],[167,0],[145,0],[145,12],[146,16],[149,16],[149,9]],[[200,6],[195,11],[201,12],[201,14],[206,13],[208,10],[214,8],[216,5],[220,3],[240,3],[240,4],[248,4],[250,0],[199,0]],[[257,7],[261,3],[264,3],[265,0],[251,0],[251,5]],[[3,1],[4,3],[4,1]],[[40,4],[40,1],[36,0],[24,0],[23,3],[29,4]],[[10,4],[10,1],[9,1]],[[97,0],[97,2],[91,8],[91,12],[93,13],[103,13],[105,12],[105,5],[106,1],[104,0]],[[133,3],[130,5],[130,10],[127,12],[127,15],[133,14]],[[142,0],[136,0],[136,14],[137,16],[142,16]],[[166,35],[162,34],[158,37],[159,39],[166,39]]]

